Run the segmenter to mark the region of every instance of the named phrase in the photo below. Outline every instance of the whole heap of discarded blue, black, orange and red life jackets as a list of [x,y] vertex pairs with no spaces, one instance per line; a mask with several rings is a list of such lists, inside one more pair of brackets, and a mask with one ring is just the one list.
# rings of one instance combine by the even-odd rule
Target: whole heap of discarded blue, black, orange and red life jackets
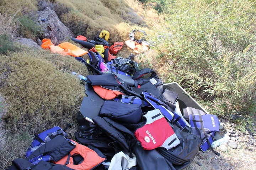
[[[145,38],[134,39],[136,31],[130,33],[130,40],[145,42]],[[211,148],[219,131],[218,118],[199,109],[180,108],[178,94],[164,89],[153,69],[139,69],[133,55],[116,57],[123,42],[110,45],[109,37],[103,30],[93,40],[81,35],[72,38],[88,52],[43,40],[43,48],[85,64],[91,75],[80,75],[80,80],[87,97],[78,113],[75,139],[59,126],[42,132],[28,147],[26,158],[13,160],[9,170],[180,170],[191,164],[199,149]]]

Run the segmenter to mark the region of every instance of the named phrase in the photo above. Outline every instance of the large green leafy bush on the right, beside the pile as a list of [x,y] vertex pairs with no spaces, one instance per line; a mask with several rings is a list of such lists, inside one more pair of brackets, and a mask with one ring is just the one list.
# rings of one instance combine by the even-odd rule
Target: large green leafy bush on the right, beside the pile
[[255,2],[175,1],[165,9],[167,24],[151,41],[172,63],[167,81],[214,114],[255,115]]

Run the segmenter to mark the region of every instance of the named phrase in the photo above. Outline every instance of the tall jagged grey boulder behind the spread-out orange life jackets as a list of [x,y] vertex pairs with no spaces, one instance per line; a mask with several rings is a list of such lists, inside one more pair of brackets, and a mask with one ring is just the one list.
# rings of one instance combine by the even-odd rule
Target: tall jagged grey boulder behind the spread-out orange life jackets
[[60,21],[55,11],[46,7],[43,11],[37,12],[39,26],[43,28],[43,37],[48,38],[53,43],[60,43],[67,38],[74,38],[74,33]]

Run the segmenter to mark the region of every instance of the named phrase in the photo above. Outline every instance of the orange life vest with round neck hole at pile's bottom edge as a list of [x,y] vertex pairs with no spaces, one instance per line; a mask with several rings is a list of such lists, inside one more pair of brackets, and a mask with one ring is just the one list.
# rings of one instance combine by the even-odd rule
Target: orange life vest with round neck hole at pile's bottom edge
[[[66,155],[59,161],[55,162],[56,164],[66,165],[69,168],[75,170],[91,170],[106,160],[105,158],[101,158],[100,156],[98,156],[98,154],[90,148],[81,145],[73,140],[71,141],[76,144],[75,148],[70,152],[69,155]],[[75,165],[73,156],[78,154],[84,160],[80,164]]]

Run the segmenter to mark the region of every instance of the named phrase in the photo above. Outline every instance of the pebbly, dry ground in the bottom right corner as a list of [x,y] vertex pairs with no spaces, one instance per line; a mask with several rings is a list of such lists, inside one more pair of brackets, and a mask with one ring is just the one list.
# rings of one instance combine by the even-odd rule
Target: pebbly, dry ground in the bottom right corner
[[[210,149],[198,151],[194,161],[186,170],[254,170],[256,169],[256,128],[245,132],[236,130],[236,124],[222,119],[223,129],[215,136],[228,135],[230,140],[214,148],[220,153],[215,155]],[[251,126],[255,127],[255,123]]]

